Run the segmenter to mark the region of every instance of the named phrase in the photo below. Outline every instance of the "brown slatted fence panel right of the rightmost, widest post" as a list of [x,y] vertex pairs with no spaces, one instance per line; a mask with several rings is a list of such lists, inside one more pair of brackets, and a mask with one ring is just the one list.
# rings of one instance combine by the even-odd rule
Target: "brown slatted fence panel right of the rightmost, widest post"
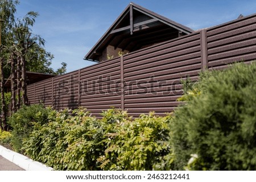
[[209,69],[256,59],[256,16],[207,30]]

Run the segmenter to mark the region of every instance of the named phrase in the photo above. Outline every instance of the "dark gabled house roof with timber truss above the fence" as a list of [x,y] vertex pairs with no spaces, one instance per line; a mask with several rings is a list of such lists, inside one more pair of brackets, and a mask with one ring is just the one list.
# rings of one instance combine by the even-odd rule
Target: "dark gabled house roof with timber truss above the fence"
[[99,61],[98,58],[108,45],[132,52],[144,45],[170,40],[174,33],[177,36],[176,31],[182,35],[194,32],[191,28],[131,2],[84,59]]

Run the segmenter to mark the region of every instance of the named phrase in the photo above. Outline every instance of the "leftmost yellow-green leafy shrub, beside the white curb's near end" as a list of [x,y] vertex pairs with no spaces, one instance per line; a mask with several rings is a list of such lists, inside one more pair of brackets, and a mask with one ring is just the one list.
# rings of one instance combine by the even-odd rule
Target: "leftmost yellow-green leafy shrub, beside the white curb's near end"
[[67,110],[57,112],[52,110],[48,115],[48,123],[36,124],[29,138],[23,141],[24,153],[48,166],[63,170],[61,160],[67,148],[64,137],[68,130],[67,122],[71,117]]

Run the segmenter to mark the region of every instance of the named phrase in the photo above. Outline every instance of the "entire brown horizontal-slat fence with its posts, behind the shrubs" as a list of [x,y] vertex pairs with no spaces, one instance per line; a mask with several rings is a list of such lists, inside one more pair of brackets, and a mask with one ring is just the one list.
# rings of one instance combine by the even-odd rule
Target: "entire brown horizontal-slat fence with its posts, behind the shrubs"
[[256,60],[256,14],[28,85],[30,104],[79,106],[93,115],[115,108],[133,116],[171,112],[183,94],[181,78],[204,69]]

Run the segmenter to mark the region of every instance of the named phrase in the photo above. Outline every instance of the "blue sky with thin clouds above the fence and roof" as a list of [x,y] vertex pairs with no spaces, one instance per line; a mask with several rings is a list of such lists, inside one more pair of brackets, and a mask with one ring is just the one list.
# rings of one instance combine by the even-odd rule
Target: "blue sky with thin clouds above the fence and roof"
[[[140,6],[184,24],[192,29],[207,28],[236,19],[240,14],[256,13],[256,1],[134,0]],[[46,40],[46,50],[55,58],[51,67],[61,62],[73,71],[94,64],[83,60],[86,53],[130,1],[126,0],[20,0],[16,16],[39,12],[36,35]]]

